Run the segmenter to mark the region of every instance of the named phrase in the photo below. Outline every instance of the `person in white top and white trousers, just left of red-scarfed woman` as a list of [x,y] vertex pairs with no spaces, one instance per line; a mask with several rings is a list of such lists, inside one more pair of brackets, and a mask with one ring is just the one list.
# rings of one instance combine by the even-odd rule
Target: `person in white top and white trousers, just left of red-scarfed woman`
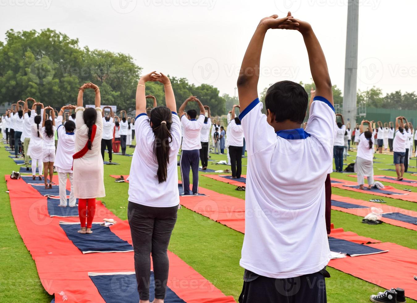
[[69,207],[75,207],[75,195],[73,187],[73,154],[75,149],[75,123],[67,121],[63,125],[63,114],[65,109],[75,109],[73,105],[63,106],[58,113],[56,119],[58,127],[58,144],[55,155],[55,168],[58,172],[59,179],[59,206],[67,207],[67,178],[70,180],[71,192],[69,199]]

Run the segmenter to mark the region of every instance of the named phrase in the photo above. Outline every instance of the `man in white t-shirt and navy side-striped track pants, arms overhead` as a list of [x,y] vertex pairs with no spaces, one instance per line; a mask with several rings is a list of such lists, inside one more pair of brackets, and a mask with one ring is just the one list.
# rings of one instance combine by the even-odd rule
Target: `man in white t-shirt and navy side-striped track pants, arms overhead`
[[[185,113],[188,102],[196,102],[200,108],[200,116],[198,119],[197,111],[190,109]],[[198,164],[200,160],[201,149],[201,128],[204,124],[206,109],[196,96],[190,96],[180,106],[178,114],[181,117],[181,124],[184,129],[183,141],[181,147],[180,167],[181,179],[184,194],[190,194],[190,167],[193,173],[193,195],[198,195]]]

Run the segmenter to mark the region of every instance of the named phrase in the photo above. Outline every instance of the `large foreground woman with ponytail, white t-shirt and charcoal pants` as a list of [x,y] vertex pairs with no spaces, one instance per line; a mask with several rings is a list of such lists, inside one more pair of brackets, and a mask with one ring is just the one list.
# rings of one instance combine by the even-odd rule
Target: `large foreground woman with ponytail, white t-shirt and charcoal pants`
[[[145,83],[165,87],[166,106],[146,114]],[[180,119],[171,82],[163,73],[141,77],[136,89],[136,150],[129,176],[128,220],[135,251],[140,303],[149,303],[151,258],[155,303],[165,298],[169,261],[167,249],[179,205],[177,154],[181,144]]]

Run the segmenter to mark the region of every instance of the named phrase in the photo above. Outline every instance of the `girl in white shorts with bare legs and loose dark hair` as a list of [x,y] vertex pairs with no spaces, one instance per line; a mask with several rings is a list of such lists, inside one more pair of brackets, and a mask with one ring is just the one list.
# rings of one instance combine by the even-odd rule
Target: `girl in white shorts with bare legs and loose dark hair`
[[[50,109],[52,120],[46,119],[46,109]],[[45,188],[52,188],[53,163],[55,162],[55,112],[52,107],[47,106],[43,111],[42,121],[43,137],[43,179]],[[49,184],[48,184],[49,173]]]

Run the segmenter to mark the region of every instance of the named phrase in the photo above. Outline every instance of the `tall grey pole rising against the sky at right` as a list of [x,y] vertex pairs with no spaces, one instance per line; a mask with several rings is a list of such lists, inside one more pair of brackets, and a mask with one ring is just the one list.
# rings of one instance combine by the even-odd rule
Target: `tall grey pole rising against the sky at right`
[[346,124],[355,127],[356,88],[358,73],[359,1],[348,0],[346,59],[344,66],[343,116]]

